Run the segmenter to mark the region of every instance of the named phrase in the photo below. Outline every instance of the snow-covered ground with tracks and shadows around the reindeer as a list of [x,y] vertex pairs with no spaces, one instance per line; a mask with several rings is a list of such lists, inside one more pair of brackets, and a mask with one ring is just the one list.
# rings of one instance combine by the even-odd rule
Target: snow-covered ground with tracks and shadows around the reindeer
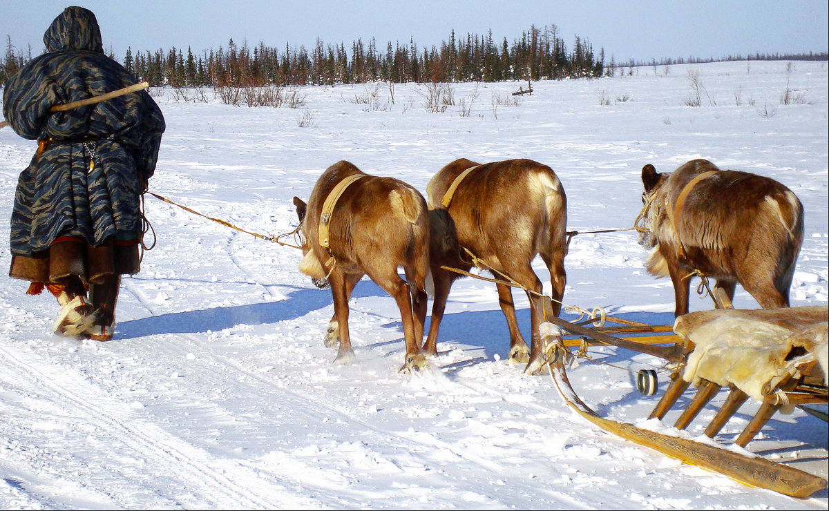
[[[296,225],[293,195],[307,199],[338,160],[425,193],[458,157],[527,157],[555,169],[568,227],[586,231],[632,226],[646,163],[672,171],[705,157],[771,176],[800,197],[806,236],[793,305],[825,305],[829,72],[826,62],[789,71],[781,61],[644,67],[536,83],[521,97],[511,92],[526,83],[455,84],[456,105],[444,113],[426,111],[427,88],[417,84],[298,89],[297,109],[154,91],[167,133],[151,190],[279,234]],[[686,106],[695,74],[698,108]],[[802,101],[780,104],[787,86]],[[363,102],[372,98],[373,108]],[[34,149],[0,130],[4,219]],[[152,197],[146,210],[158,244],[124,279],[111,342],[56,337],[51,296],[25,296],[27,282],[8,277],[0,287],[0,508],[827,509],[826,490],[801,500],[749,488],[583,422],[549,376],[504,363],[507,325],[488,282],[453,288],[440,355],[424,375],[397,373],[400,316],[361,282],[351,300],[357,361],[334,366],[322,345],[331,293],[298,272],[298,250]],[[630,231],[576,236],[565,302],[671,324],[671,283],[647,274],[646,255]],[[8,263],[0,250],[0,267]],[[541,260],[535,267],[549,291]],[[515,296],[528,337],[526,296]],[[742,289],[735,305],[757,306]],[[710,301],[692,296],[691,307]],[[658,369],[657,359],[595,356],[618,367],[570,369],[584,401],[617,419],[647,416],[658,395],[642,397],[626,368]],[[826,477],[827,443],[826,423],[797,411],[776,416],[749,450],[778,460],[799,453],[809,462],[793,465]]]

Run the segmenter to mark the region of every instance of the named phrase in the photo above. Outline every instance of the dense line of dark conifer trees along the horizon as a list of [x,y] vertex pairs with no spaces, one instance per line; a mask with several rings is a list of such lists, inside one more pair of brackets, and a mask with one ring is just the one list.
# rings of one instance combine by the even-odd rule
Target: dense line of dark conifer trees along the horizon
[[[113,55],[110,55],[113,56]],[[14,51],[12,41],[0,60],[0,84],[17,72],[28,60]],[[117,59],[116,59],[117,60]],[[128,48],[120,62],[134,75],[153,86],[264,86],[264,85],[334,85],[364,84],[376,81],[392,83],[496,82],[504,80],[561,80],[604,75],[604,49],[596,55],[586,38],[575,36],[570,51],[558,27],[531,26],[512,43],[505,37],[500,43],[492,38],[469,33],[439,46],[419,48],[413,39],[408,44],[389,41],[385,48],[371,38],[326,44],[321,39],[313,48],[286,45],[266,46],[259,42],[238,46],[232,39],[227,47],[194,54],[191,48],[135,51]]]

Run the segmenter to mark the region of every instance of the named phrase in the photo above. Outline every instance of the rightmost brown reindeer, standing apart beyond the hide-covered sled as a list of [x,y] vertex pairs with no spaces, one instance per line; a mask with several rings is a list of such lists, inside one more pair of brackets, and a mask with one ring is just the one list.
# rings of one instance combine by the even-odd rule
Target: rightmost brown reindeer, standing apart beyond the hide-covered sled
[[715,278],[715,296],[728,302],[739,282],[763,308],[788,307],[803,241],[803,206],[792,190],[768,177],[720,171],[707,160],[670,174],[648,164],[642,184],[647,232],[639,243],[653,249],[647,271],[671,277],[676,316],[688,312],[695,271]]

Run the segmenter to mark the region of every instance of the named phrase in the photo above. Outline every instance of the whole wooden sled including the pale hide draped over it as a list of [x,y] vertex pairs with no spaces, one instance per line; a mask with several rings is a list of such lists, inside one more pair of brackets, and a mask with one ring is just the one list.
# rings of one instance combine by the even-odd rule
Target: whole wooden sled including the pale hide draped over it
[[[794,406],[826,404],[829,313],[826,306],[692,312],[676,319],[672,335],[623,338],[617,335],[659,333],[670,327],[621,325],[611,328],[586,326],[584,322],[574,324],[552,314],[549,298],[544,302],[545,321],[549,326],[545,330],[547,367],[565,403],[581,417],[605,431],[744,484],[800,498],[827,488],[827,480],[817,475],[761,456],[720,447],[715,442],[694,441],[686,438],[687,435],[682,436],[681,431],[723,387],[730,388],[728,398],[705,429],[705,435],[712,439],[749,397],[761,403],[759,411],[734,441],[740,447],[747,446],[778,410],[787,412]],[[574,336],[580,339],[574,341]],[[687,388],[697,387],[696,394],[673,425],[676,435],[600,417],[579,399],[565,369],[575,356],[570,347],[580,345],[579,354],[583,355],[589,345],[595,344],[652,354],[675,367],[671,383],[648,418],[662,420]],[[657,381],[654,376],[639,372],[640,392],[655,392]],[[811,409],[806,411],[812,412]]]

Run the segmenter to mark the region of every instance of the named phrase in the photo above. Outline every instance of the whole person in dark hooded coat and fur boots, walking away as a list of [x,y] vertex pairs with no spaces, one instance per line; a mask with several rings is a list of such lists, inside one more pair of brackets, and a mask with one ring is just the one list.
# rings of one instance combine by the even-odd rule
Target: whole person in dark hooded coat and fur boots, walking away
[[83,7],[67,7],[43,42],[46,53],[3,94],[8,124],[38,142],[17,183],[9,275],[32,282],[30,294],[46,287],[57,297],[56,333],[109,340],[121,275],[140,269],[140,201],[164,118],[146,91],[51,113],[137,80],[104,54],[95,14]]

